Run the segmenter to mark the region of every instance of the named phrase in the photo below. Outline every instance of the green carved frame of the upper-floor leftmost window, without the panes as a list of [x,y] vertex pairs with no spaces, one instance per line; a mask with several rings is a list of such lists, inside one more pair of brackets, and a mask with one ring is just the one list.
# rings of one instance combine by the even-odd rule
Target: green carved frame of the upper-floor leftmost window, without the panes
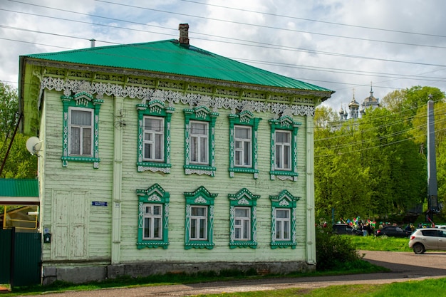
[[[93,95],[86,92],[74,95],[62,95],[63,104],[63,135],[62,135],[62,166],[68,167],[68,161],[92,162],[93,168],[99,168],[99,110],[104,100],[93,98]],[[71,153],[71,113],[73,111],[88,111],[93,115],[91,125],[91,152],[88,155],[76,155]]]

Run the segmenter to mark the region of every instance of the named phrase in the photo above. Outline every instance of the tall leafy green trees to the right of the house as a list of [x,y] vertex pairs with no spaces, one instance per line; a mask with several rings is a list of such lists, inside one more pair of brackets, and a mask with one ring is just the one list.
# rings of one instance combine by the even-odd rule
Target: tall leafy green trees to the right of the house
[[315,114],[316,215],[385,217],[403,214],[427,197],[426,103],[435,103],[439,202],[446,199],[446,102],[437,88],[415,86],[385,96],[383,107],[357,120],[331,108]]

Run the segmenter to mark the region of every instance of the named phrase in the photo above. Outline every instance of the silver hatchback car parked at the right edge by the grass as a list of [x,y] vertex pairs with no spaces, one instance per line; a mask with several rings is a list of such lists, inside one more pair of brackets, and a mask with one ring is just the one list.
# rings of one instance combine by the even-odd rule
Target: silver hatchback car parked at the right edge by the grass
[[446,251],[446,230],[440,228],[422,228],[413,231],[409,247],[415,254],[423,254],[427,249]]

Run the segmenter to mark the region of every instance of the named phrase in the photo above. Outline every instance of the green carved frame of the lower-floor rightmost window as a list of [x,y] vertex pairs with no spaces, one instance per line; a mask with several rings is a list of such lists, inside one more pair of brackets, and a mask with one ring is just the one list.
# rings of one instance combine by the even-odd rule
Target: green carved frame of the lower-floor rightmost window
[[[271,249],[287,247],[296,249],[296,202],[300,197],[294,197],[284,189],[278,196],[269,196],[269,199],[271,200]],[[278,214],[288,214],[289,217]],[[285,233],[286,236],[284,236]]]

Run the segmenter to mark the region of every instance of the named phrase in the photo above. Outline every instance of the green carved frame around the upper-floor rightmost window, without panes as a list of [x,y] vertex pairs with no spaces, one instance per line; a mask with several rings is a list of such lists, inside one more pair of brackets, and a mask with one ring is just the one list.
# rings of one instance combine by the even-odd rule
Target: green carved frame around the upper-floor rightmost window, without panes
[[[269,172],[269,176],[271,179],[289,179],[296,182],[299,176],[297,172],[297,132],[302,123],[294,122],[289,115],[283,115],[279,119],[269,120],[269,125],[271,125],[271,171]],[[276,165],[276,157],[280,156],[280,152],[277,152],[277,147],[281,147],[281,143],[279,141],[276,142],[278,133],[282,133],[283,135],[290,134],[291,136],[289,141],[289,168],[278,167]],[[279,160],[279,162],[283,162],[283,160]]]

